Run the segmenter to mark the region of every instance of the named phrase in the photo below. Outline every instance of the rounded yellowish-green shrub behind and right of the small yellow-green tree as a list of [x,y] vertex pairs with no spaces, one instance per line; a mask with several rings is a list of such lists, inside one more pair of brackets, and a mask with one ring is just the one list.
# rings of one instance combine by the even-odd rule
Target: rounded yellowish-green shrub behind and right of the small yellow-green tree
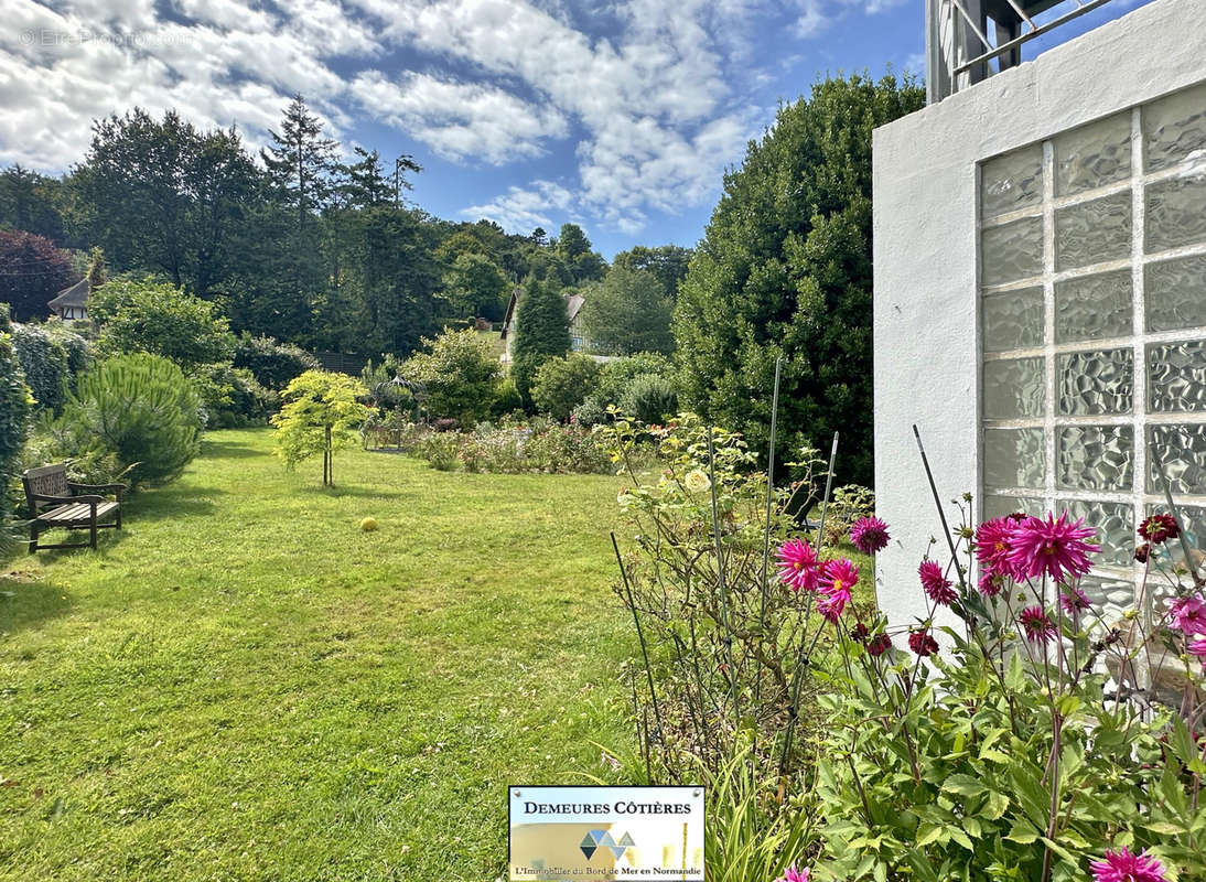
[[474,425],[490,416],[502,367],[490,343],[475,331],[449,331],[423,340],[428,350],[406,360],[405,376],[422,384],[433,417]]

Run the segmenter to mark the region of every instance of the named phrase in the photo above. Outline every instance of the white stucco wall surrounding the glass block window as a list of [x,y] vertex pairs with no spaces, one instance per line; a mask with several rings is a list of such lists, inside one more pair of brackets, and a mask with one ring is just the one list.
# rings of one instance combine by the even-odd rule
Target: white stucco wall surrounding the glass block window
[[942,498],[979,496],[977,163],[1206,81],[1204,22],[1206,0],[1157,0],[874,133],[876,493],[892,535],[877,577],[894,625],[924,614],[917,565],[942,538],[914,422]]

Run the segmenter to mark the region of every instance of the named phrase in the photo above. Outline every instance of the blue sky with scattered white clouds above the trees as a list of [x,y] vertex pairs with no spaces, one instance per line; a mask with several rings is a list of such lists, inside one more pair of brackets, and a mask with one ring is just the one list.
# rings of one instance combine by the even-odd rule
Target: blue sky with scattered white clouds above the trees
[[[1144,0],[1113,0],[1072,34]],[[610,258],[693,246],[726,169],[826,74],[924,70],[923,0],[0,0],[0,165],[58,174],[141,106],[257,150],[302,94],[412,203]],[[1066,31],[1043,42],[1066,39]],[[1037,48],[1042,48],[1038,46]],[[1029,48],[1028,56],[1036,49]]]

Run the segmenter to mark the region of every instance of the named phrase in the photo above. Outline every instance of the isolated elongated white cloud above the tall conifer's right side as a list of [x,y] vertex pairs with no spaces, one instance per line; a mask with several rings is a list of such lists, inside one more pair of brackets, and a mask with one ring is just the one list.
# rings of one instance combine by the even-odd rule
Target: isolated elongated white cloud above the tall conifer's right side
[[503,165],[540,156],[550,138],[569,134],[555,107],[539,107],[499,88],[408,74],[396,82],[361,74],[351,93],[364,110],[452,159]]

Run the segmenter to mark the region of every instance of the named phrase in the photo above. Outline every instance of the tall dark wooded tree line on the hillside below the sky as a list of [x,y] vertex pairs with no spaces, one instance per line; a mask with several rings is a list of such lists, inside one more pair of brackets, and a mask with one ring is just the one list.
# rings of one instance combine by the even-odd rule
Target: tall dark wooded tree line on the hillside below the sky
[[[92,261],[103,255],[110,274],[169,281],[213,303],[235,331],[405,355],[450,320],[502,320],[525,280],[558,294],[607,281],[611,268],[579,226],[551,238],[434,217],[406,198],[421,171],[409,154],[344,154],[300,95],[258,156],[234,128],[206,132],[135,107],[98,119],[81,162],[59,177],[0,171],[0,302],[18,320],[45,317],[99,249]],[[652,286],[662,350],[689,256],[637,247],[615,259],[639,274],[632,297],[648,300]],[[603,349],[625,347],[622,327],[595,321]]]

